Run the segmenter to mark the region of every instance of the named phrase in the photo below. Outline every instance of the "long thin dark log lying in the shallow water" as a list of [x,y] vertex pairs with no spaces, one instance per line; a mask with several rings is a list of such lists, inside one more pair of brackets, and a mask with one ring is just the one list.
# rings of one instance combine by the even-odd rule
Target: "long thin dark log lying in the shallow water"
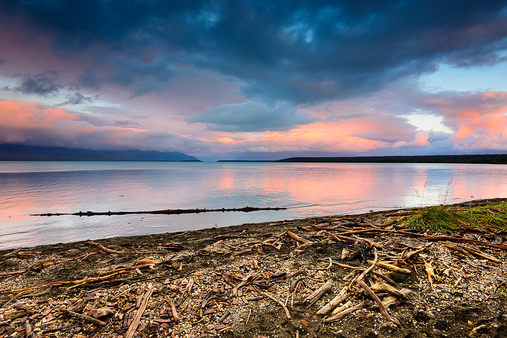
[[61,215],[75,215],[75,216],[97,216],[97,215],[130,215],[130,214],[156,214],[156,215],[179,215],[179,214],[190,214],[190,213],[201,213],[201,212],[226,212],[226,211],[241,211],[241,212],[251,212],[251,211],[260,211],[260,210],[286,210],[287,208],[253,208],[253,207],[243,207],[243,208],[222,208],[222,209],[166,209],[166,210],[153,210],[153,211],[106,211],[106,212],[94,212],[94,211],[86,211],[86,212],[74,212],[74,213],[45,213],[45,214],[31,214],[30,216],[61,216]]

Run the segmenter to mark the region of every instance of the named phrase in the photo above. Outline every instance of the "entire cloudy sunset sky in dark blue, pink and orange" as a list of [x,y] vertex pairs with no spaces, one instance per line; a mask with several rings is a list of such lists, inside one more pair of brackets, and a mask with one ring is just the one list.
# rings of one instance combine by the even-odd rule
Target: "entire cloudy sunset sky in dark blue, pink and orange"
[[0,2],[0,144],[507,152],[506,1]]

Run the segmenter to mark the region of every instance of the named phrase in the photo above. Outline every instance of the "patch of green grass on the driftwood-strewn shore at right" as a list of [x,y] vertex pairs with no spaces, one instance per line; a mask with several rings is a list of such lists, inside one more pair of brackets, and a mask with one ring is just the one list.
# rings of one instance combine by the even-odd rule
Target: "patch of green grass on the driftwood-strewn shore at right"
[[406,219],[405,224],[418,230],[458,230],[468,227],[507,229],[507,203],[498,203],[459,210],[440,204],[425,207]]

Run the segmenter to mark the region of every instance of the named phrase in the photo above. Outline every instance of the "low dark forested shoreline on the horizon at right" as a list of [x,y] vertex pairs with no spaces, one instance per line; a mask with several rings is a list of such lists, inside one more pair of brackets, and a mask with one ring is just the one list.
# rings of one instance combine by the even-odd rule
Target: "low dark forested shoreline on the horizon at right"
[[476,163],[507,164],[507,154],[421,155],[421,156],[355,156],[355,157],[292,157],[275,162],[319,163]]

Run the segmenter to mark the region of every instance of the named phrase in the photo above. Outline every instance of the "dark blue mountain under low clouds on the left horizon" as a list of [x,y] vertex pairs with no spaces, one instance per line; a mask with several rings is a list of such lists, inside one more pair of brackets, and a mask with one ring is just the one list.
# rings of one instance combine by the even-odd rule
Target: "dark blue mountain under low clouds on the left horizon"
[[140,150],[89,150],[0,144],[0,161],[173,161],[200,162],[183,153]]

